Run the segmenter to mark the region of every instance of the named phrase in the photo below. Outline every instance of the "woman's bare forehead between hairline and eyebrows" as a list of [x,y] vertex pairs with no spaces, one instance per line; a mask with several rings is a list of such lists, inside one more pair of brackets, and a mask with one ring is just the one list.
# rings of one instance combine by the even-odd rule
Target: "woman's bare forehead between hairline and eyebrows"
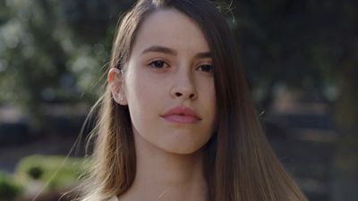
[[175,9],[159,9],[142,22],[132,54],[138,54],[149,46],[166,46],[179,54],[209,52],[201,29],[191,18]]

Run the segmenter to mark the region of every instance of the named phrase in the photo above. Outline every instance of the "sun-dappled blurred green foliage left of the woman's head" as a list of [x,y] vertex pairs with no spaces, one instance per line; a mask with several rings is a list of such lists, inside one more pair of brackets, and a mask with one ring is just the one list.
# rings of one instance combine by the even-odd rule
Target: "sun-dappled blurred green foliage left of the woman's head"
[[93,103],[115,24],[133,1],[1,1],[0,104]]

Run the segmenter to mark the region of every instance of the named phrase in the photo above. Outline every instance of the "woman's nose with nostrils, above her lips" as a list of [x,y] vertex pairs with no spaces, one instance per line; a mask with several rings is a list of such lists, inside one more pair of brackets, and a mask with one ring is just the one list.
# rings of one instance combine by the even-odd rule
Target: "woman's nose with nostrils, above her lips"
[[170,95],[174,98],[181,97],[183,99],[195,100],[198,97],[198,93],[190,72],[180,73],[180,75],[175,77],[176,81],[173,82]]

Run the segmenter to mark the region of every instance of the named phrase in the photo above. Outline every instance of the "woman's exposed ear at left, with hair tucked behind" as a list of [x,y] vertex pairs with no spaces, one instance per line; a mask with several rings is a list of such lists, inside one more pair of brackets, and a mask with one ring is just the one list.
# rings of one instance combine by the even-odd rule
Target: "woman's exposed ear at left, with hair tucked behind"
[[120,105],[128,105],[124,94],[122,72],[117,68],[111,68],[108,71],[107,80],[115,102]]

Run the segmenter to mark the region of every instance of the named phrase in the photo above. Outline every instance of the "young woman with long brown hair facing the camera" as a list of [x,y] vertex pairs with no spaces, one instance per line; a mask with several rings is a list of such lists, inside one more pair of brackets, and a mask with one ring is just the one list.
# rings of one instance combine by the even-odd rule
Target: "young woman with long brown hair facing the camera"
[[82,200],[306,200],[262,133],[209,1],[139,1],[107,78]]

